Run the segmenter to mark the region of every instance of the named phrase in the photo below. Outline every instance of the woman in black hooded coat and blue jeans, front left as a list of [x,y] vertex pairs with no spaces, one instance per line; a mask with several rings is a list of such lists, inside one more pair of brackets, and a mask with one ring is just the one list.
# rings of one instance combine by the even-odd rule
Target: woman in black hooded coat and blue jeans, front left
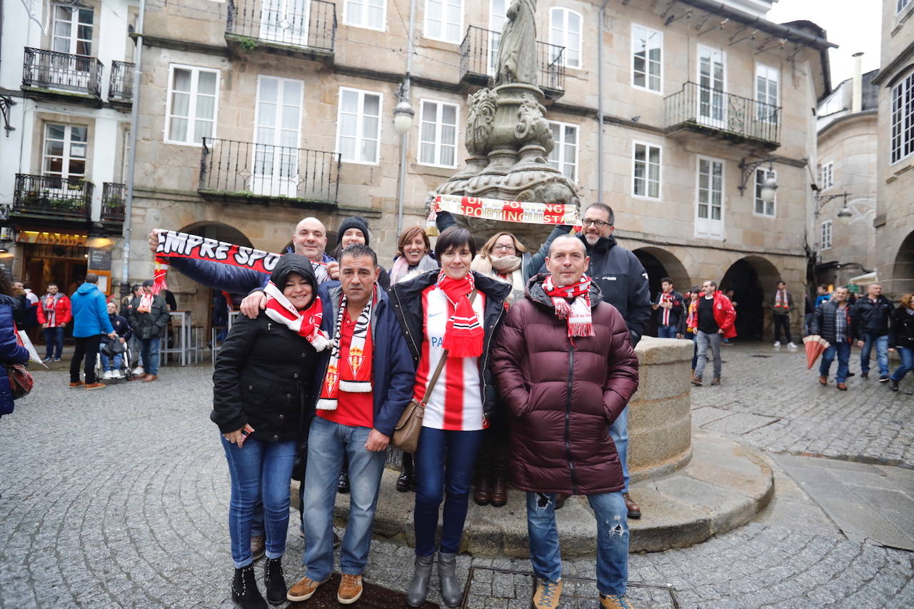
[[319,389],[317,352],[329,344],[320,330],[324,307],[311,262],[287,254],[276,264],[266,310],[239,315],[213,372],[213,411],[231,475],[228,531],[235,579],[232,598],[242,607],[266,607],[250,552],[254,507],[263,502],[265,583],[273,604],[286,597],[282,553],[289,526],[289,483],[303,430]]

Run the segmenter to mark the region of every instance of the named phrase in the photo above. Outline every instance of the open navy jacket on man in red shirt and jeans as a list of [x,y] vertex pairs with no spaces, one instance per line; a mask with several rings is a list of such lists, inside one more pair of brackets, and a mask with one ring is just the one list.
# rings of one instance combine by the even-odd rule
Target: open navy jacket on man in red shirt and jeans
[[[331,281],[322,284],[317,289],[317,294],[324,305],[321,327],[333,339],[343,289],[339,282]],[[416,367],[409,356],[409,346],[390,306],[388,294],[378,290],[377,295],[377,304],[371,311],[371,394],[375,403],[375,429],[390,436],[394,433],[400,415],[412,400]],[[330,363],[330,349],[324,349],[318,355],[320,361],[315,387],[321,387],[324,382],[327,365]]]

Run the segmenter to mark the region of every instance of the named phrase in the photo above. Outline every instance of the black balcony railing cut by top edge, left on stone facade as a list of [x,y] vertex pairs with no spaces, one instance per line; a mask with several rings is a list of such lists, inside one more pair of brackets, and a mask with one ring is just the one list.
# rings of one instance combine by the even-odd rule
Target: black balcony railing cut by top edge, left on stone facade
[[332,53],[336,5],[324,0],[228,0],[226,34],[241,38],[247,50],[266,42]]

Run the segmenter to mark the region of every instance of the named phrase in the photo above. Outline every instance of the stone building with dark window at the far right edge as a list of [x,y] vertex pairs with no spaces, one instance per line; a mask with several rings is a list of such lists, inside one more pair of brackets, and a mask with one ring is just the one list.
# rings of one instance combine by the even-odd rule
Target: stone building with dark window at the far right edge
[[879,87],[877,277],[883,293],[914,292],[914,2],[882,3]]

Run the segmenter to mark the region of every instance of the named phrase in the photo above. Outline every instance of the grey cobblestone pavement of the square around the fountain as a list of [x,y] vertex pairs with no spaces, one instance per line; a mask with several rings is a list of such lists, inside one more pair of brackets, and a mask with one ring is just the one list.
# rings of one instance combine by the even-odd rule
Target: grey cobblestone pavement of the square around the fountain
[[[741,347],[726,355],[728,384],[709,388],[707,395],[732,391],[748,397],[727,370],[740,360],[758,368],[772,360],[749,360]],[[0,419],[0,607],[233,606],[228,472],[218,431],[207,418],[209,373],[205,366],[163,369],[155,383],[93,392],[66,389],[62,371],[36,373],[37,389],[17,402],[16,413]],[[792,376],[770,373],[781,387],[789,387]],[[748,377],[756,379],[759,396],[765,375],[753,370]],[[834,411],[856,405],[836,393],[827,395],[846,403]],[[700,399],[721,404],[719,398]],[[777,403],[786,414],[790,400]],[[898,400],[887,403],[893,412],[902,410]],[[792,424],[827,422],[811,410],[794,409]],[[806,419],[799,416],[804,412]],[[879,424],[887,425],[887,419]],[[823,433],[840,436],[851,420],[846,416]],[[807,443],[813,444],[812,433]],[[875,443],[866,446],[876,454]],[[291,527],[285,561],[290,581],[301,575],[302,546]],[[641,607],[673,606],[667,584],[680,607],[909,607],[912,557],[825,534],[749,524],[693,548],[632,555],[630,581],[659,587],[632,586],[631,592]],[[528,606],[528,577],[491,571],[526,572],[527,561],[459,560],[462,578],[474,567],[467,606]],[[376,542],[366,576],[402,590],[411,561],[409,548]],[[592,579],[593,562],[567,561],[565,574],[563,607],[596,609],[593,584],[570,579]]]

